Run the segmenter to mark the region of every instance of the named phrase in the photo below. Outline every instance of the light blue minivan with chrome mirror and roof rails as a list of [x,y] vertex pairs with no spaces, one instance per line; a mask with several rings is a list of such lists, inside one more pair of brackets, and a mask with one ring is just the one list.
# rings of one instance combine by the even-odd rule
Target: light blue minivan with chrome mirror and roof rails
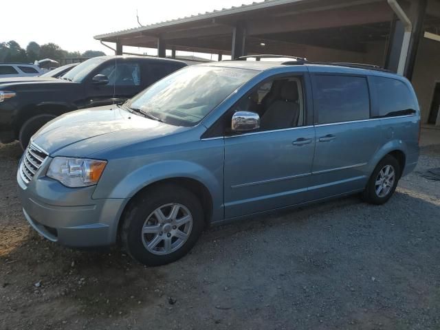
[[355,193],[385,203],[417,164],[419,121],[408,80],[375,67],[206,63],[52,120],[17,181],[50,241],[163,265],[206,225]]

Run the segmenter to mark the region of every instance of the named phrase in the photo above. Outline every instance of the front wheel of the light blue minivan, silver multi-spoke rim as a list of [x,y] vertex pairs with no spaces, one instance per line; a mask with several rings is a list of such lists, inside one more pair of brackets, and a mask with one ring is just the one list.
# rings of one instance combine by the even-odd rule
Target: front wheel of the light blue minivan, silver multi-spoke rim
[[133,259],[148,266],[180,259],[195,245],[203,230],[199,199],[173,184],[146,190],[124,214],[123,248]]

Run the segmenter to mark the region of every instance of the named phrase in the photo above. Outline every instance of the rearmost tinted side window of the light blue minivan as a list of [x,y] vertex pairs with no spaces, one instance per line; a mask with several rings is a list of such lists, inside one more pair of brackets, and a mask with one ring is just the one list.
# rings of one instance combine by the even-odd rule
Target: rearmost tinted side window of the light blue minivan
[[417,105],[408,87],[400,80],[373,77],[380,117],[407,115],[415,112]]

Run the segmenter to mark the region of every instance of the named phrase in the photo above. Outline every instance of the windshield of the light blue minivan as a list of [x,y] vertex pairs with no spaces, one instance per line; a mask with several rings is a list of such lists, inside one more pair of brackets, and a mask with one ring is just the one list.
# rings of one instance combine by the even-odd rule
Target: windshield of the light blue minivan
[[258,71],[195,65],[181,69],[126,104],[176,126],[194,126]]

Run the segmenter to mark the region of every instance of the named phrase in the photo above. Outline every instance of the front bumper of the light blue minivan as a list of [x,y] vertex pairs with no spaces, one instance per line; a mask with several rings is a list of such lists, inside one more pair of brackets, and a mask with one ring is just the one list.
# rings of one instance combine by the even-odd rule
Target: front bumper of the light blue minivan
[[19,198],[30,225],[46,239],[71,247],[114,244],[126,200],[92,199],[95,186],[67,188],[42,174],[48,163],[28,185],[17,173]]

